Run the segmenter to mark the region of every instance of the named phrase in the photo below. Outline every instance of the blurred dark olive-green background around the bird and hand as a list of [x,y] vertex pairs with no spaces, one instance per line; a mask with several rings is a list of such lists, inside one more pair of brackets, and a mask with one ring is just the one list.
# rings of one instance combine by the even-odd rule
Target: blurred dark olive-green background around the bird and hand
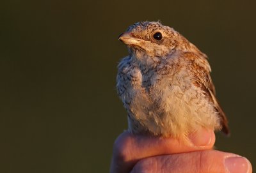
[[232,135],[216,147],[256,162],[256,1],[0,3],[0,172],[109,172],[127,128],[115,89],[118,35],[161,20],[210,58]]

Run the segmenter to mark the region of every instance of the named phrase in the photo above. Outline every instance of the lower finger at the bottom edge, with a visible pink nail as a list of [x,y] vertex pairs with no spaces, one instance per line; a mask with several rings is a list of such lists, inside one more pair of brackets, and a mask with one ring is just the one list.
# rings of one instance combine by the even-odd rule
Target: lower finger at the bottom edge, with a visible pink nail
[[139,172],[250,173],[252,165],[236,154],[208,150],[145,158],[131,173]]

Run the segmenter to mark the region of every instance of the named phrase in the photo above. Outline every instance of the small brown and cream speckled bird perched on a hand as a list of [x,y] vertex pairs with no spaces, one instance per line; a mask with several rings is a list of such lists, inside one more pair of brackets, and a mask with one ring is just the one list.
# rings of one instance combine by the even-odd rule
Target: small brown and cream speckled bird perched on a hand
[[208,57],[172,27],[136,22],[120,34],[129,55],[116,90],[134,134],[188,139],[200,127],[229,134]]

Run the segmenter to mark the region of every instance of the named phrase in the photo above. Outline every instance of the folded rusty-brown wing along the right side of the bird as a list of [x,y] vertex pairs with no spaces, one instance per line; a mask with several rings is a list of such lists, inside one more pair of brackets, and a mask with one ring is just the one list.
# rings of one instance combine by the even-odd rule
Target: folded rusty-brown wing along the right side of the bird
[[195,86],[200,87],[205,94],[209,95],[211,102],[214,103],[214,107],[220,116],[222,125],[221,131],[229,135],[228,120],[216,98],[215,87],[210,76],[211,67],[207,61],[207,57],[194,53],[188,53],[186,57],[188,57],[189,64],[191,64],[189,67],[192,68],[192,74],[195,75]]

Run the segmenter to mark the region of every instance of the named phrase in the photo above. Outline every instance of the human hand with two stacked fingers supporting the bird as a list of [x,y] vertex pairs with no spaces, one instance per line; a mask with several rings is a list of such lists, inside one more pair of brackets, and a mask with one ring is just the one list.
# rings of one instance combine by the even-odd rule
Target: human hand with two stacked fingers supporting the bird
[[202,128],[190,134],[189,140],[191,144],[172,137],[147,137],[126,131],[115,141],[110,172],[252,172],[246,158],[212,149],[212,130]]

